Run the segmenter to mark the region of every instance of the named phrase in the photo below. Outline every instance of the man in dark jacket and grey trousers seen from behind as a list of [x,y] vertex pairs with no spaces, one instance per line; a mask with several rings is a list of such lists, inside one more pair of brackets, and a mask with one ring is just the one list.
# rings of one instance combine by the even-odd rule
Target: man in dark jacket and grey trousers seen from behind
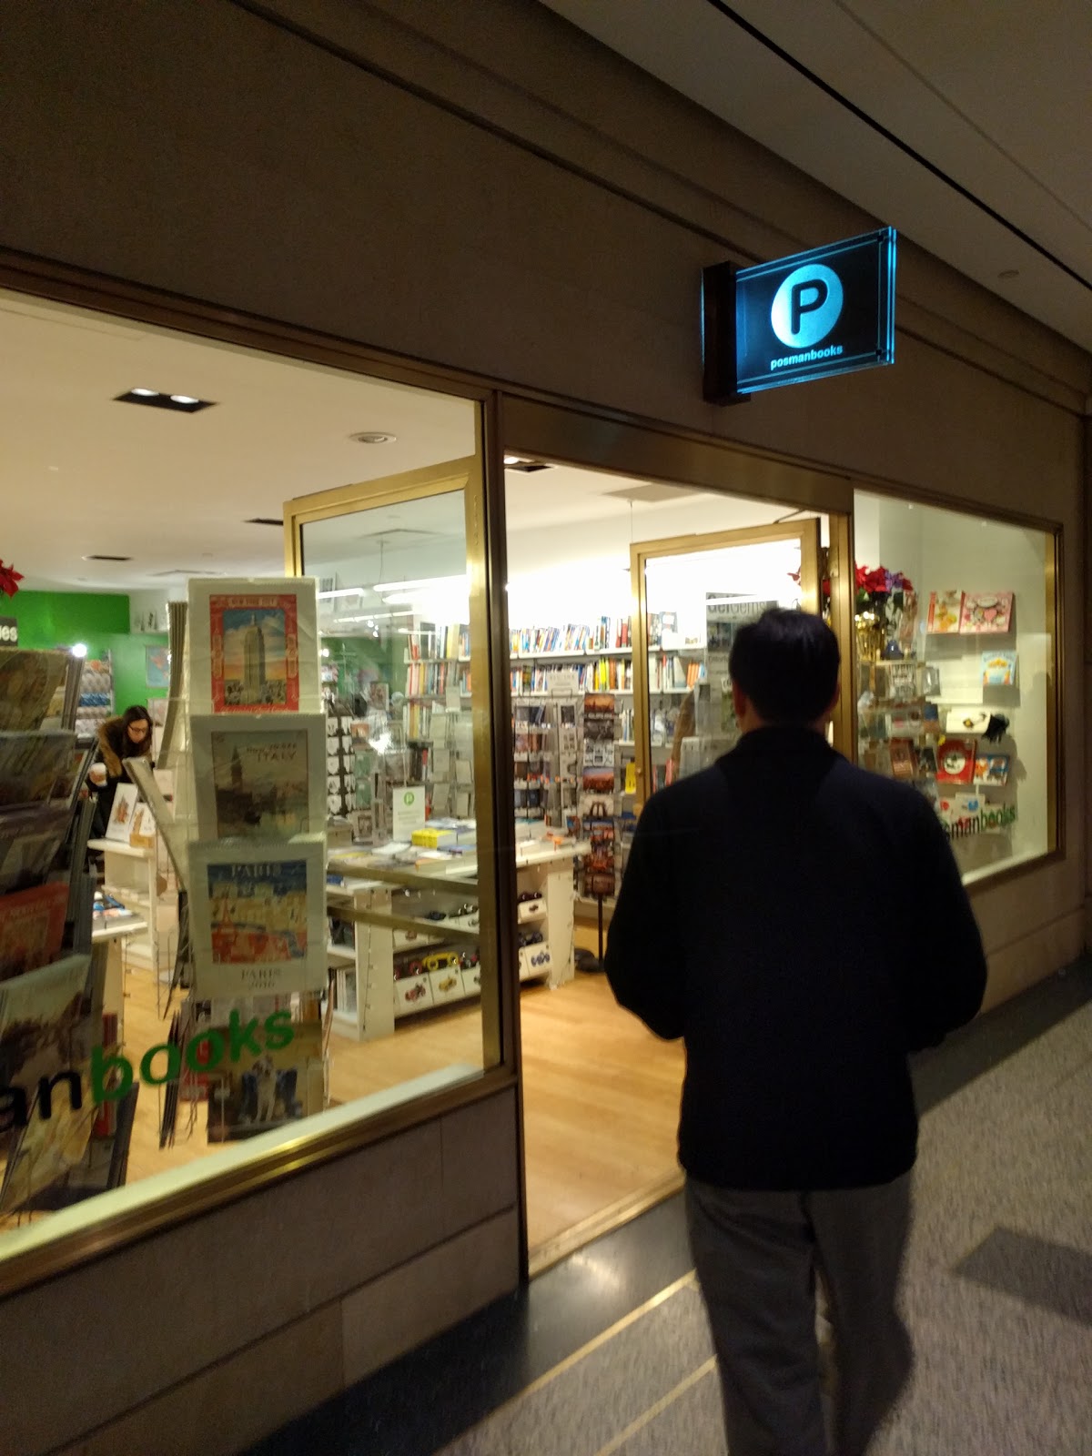
[[817,1277],[834,1452],[863,1456],[911,1363],[907,1053],[974,1016],[986,961],[930,805],[826,741],[830,628],[767,612],[729,670],[743,737],[645,805],[606,968],[686,1041],[678,1159],[731,1456],[827,1456]]

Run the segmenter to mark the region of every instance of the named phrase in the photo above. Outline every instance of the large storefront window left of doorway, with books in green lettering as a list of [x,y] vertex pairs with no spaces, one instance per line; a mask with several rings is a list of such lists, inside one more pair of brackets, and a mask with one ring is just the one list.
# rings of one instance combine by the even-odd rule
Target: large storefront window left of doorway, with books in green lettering
[[[93,347],[58,335],[70,313],[102,322],[70,331]],[[12,524],[26,596],[19,644],[0,644],[0,1262],[15,1287],[57,1238],[95,1226],[100,1246],[115,1214],[137,1227],[217,1175],[249,1187],[479,1077],[501,1032],[480,405],[33,300],[4,317],[61,434],[79,435],[80,408],[109,412],[116,456],[84,451],[82,470],[131,495],[163,482],[153,534],[135,515],[112,527],[105,569],[128,594],[82,593],[93,558],[68,562],[36,515]],[[215,409],[134,409],[109,389],[103,406],[103,377],[114,395],[140,380],[137,403],[146,380],[183,380]],[[41,454],[17,400],[0,415],[13,448]],[[207,418],[213,432],[185,428]],[[374,419],[400,473],[360,483]],[[93,494],[58,459],[58,514],[90,540]],[[331,495],[336,510],[303,510]],[[268,530],[285,501],[294,574]],[[151,745],[131,775],[109,735],[96,744],[127,708]]]

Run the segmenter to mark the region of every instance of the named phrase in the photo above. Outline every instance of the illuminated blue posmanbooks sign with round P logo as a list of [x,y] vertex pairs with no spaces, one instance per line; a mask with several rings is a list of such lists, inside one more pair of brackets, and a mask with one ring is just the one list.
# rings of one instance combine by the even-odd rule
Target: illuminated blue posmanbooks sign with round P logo
[[711,400],[893,364],[895,232],[754,268],[706,268],[702,304]]

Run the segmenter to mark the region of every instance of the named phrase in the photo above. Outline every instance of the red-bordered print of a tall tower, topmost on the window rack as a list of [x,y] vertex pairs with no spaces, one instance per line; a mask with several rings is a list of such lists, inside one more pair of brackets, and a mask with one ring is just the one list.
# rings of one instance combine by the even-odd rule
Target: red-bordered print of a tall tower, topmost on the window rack
[[191,581],[189,692],[197,713],[317,711],[314,579]]

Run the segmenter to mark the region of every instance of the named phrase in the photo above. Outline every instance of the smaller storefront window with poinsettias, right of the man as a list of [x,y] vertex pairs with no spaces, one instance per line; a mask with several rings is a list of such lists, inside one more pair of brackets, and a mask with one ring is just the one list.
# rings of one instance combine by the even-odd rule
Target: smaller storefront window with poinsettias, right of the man
[[1054,539],[855,495],[858,757],[936,808],[964,879],[1056,830]]

